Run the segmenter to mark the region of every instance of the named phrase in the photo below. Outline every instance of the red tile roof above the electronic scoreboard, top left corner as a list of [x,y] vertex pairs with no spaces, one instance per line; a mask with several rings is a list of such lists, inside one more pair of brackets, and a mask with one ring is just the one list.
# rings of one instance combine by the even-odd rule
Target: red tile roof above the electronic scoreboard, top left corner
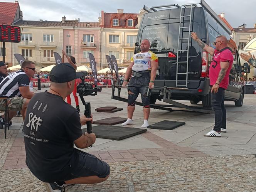
[[19,3],[0,2],[0,24],[11,25],[18,7]]

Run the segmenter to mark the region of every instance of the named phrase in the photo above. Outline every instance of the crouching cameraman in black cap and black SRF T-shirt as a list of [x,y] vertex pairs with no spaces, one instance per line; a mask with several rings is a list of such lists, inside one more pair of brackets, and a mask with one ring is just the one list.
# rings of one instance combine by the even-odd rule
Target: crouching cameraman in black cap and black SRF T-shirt
[[65,102],[76,78],[83,76],[69,63],[61,63],[50,72],[49,91],[37,93],[28,105],[24,121],[26,164],[49,191],[63,191],[67,184],[93,184],[108,179],[109,165],[74,148],[91,146],[96,136],[81,130],[92,118],[79,117]]

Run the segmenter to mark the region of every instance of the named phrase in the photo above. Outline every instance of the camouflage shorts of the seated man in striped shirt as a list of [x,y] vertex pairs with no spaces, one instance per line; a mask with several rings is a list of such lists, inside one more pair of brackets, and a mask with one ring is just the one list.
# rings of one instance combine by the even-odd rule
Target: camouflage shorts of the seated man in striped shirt
[[[7,98],[7,111],[20,111],[26,99],[22,97]],[[4,111],[6,99],[0,99],[0,111]]]

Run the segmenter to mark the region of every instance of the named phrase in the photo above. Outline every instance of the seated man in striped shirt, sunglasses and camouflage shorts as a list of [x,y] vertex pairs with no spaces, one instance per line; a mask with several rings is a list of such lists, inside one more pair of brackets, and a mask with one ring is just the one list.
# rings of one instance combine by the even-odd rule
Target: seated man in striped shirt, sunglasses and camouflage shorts
[[[25,111],[29,100],[34,93],[29,91],[29,77],[35,74],[35,63],[24,61],[21,69],[5,77],[0,83],[0,98],[7,99],[9,121],[21,111],[22,118],[25,118]],[[0,110],[5,110],[5,100],[0,100]],[[3,128],[4,118],[0,117],[0,128]]]

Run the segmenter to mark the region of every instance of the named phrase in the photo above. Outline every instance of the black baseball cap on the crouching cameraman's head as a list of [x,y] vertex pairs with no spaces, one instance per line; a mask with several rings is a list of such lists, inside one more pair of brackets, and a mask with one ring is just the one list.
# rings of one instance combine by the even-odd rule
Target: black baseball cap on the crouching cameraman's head
[[84,76],[82,72],[76,72],[69,63],[60,63],[54,66],[50,72],[50,81],[65,83]]

